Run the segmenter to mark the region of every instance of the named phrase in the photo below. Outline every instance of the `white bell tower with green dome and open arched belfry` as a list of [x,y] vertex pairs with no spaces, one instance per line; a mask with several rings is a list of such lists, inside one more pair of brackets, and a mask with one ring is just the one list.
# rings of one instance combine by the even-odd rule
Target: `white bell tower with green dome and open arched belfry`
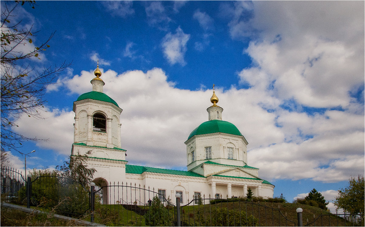
[[99,62],[94,74],[95,78],[90,81],[92,91],[80,95],[73,103],[75,123],[71,155],[87,154],[88,166],[97,171],[94,177],[109,182],[113,181],[111,172],[124,174],[118,174],[118,179],[125,178],[126,150],[121,147],[120,135],[123,110],[103,93],[105,83],[100,78]]

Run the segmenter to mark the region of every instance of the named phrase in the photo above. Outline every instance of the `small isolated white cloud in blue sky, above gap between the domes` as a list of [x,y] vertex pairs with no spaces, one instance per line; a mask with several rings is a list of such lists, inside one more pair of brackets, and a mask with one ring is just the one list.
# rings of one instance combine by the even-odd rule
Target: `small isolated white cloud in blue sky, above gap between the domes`
[[184,31],[178,27],[175,34],[169,32],[162,40],[162,49],[166,59],[170,64],[174,65],[179,63],[180,65],[186,65],[184,60],[185,52],[187,51],[187,42],[190,35],[185,34]]

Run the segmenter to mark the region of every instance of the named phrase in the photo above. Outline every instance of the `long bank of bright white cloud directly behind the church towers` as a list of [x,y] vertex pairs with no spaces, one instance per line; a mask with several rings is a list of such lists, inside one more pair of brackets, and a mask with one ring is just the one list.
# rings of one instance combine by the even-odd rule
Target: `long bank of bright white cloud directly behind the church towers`
[[[104,93],[124,109],[122,148],[127,150],[127,160],[137,165],[185,166],[184,142],[208,120],[212,91],[178,89],[159,68],[122,74],[100,70]],[[62,82],[71,93],[81,94],[91,91],[93,77],[93,70],[82,71]],[[223,120],[235,124],[249,142],[248,165],[260,168],[260,177],[337,182],[363,172],[363,115],[334,110],[313,116],[289,112],[279,107],[280,99],[256,86],[226,91],[218,87],[216,94],[224,108]],[[74,113],[53,110],[45,116],[46,120],[24,118],[19,129],[27,136],[37,132],[39,138],[50,138],[38,146],[68,154]]]

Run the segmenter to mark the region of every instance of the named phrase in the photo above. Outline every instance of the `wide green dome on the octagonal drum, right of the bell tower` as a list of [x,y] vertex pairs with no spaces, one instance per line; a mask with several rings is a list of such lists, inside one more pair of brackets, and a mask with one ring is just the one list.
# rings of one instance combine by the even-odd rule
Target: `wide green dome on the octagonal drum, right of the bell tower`
[[203,135],[210,134],[215,132],[223,132],[232,135],[240,135],[241,132],[238,130],[234,124],[230,122],[226,122],[224,120],[210,120],[204,123],[201,123],[200,126],[195,128],[189,135],[189,138],[192,138],[195,135]]

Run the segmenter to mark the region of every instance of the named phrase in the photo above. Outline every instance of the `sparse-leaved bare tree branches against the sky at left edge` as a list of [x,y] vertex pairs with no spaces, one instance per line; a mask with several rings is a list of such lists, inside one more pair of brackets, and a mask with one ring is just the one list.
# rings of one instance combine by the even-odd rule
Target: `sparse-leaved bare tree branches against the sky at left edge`
[[35,1],[4,1],[1,5],[1,151],[20,152],[22,142],[39,140],[14,132],[14,127],[19,127],[16,121],[23,115],[42,118],[39,110],[44,108],[47,85],[53,84],[59,73],[70,66],[64,62],[60,66],[35,70],[36,66],[38,68],[35,64],[41,61],[34,60],[41,59],[50,47],[48,43],[54,32],[41,45],[34,46],[33,39],[38,31],[17,21],[15,15],[15,9],[24,3],[34,8]]

